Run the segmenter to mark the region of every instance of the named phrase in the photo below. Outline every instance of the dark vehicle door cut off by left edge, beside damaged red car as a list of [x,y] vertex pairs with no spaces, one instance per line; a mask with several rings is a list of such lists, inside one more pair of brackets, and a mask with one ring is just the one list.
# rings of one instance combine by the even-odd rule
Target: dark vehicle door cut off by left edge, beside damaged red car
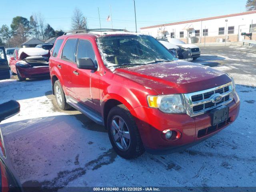
[[0,47],[0,80],[10,79],[10,70],[4,47]]

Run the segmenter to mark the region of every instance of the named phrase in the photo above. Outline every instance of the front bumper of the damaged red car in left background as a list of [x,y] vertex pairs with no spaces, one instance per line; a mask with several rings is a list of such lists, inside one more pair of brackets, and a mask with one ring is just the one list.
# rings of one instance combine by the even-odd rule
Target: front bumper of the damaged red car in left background
[[50,76],[49,66],[42,67],[28,67],[22,68],[20,66],[16,66],[18,69],[20,76],[22,78],[38,78],[42,76]]

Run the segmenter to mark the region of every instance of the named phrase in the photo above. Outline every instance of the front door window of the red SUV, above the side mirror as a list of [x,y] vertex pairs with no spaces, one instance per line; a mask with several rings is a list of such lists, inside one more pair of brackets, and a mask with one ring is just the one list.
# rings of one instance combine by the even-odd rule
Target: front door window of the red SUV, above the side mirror
[[76,60],[79,58],[91,58],[96,64],[96,56],[92,44],[88,40],[80,40],[77,48]]

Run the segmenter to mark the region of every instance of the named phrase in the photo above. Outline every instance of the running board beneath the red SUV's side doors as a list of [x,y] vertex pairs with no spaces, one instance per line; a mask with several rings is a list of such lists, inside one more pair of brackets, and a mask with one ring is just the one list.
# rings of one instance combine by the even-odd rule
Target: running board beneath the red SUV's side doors
[[80,111],[94,122],[104,126],[103,118],[98,112],[95,112],[94,110],[84,106],[70,96],[66,96],[66,101],[70,106],[74,107],[76,110]]

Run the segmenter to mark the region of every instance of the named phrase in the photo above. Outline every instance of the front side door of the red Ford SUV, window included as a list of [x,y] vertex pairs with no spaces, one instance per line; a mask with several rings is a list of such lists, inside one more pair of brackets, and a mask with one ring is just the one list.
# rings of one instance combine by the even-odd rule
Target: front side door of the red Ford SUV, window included
[[[79,40],[76,52],[76,61],[79,58],[91,58],[94,64],[97,65],[95,52],[89,40]],[[74,65],[72,82],[74,84],[76,99],[82,104],[93,109],[95,108],[93,101],[94,89],[92,89],[92,84],[94,84],[98,79],[98,73],[93,70],[79,69]]]

